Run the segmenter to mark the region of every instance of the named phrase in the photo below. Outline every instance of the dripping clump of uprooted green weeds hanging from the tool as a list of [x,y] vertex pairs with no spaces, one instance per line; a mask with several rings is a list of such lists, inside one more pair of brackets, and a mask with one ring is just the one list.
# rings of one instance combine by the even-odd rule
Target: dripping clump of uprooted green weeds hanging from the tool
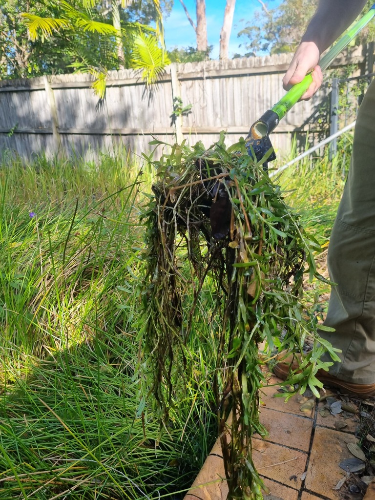
[[175,145],[159,161],[150,158],[157,175],[143,214],[144,383],[167,424],[170,410],[178,413],[193,358],[189,339],[200,337],[203,316],[217,342],[211,377],[230,499],[261,498],[251,458],[252,434],[264,434],[259,345],[270,359],[275,349],[302,354],[312,339],[300,373],[285,381],[302,393],[309,387],[318,395],[322,384],[314,375],[331,364],[320,359],[325,351],[338,359],[302,300],[305,266],[310,279],[318,276],[320,247],[264,171],[264,160],[254,161],[243,140],[226,148],[223,135],[208,150],[201,143]]

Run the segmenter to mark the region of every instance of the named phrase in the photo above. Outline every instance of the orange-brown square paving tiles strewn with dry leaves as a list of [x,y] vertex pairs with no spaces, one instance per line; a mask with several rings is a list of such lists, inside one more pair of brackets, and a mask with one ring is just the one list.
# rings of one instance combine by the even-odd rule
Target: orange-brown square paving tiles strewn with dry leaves
[[[360,477],[372,464],[366,458],[359,473],[342,468],[346,459],[349,467],[357,460],[361,468],[364,458],[360,401],[326,389],[319,399],[305,393],[285,402],[275,397],[282,390],[278,382],[269,375],[261,389],[260,421],[268,435],[252,440],[254,464],[269,489],[265,500],[361,500],[367,485]],[[184,500],[224,500],[227,491],[217,440]],[[375,500],[367,495],[365,500]]]

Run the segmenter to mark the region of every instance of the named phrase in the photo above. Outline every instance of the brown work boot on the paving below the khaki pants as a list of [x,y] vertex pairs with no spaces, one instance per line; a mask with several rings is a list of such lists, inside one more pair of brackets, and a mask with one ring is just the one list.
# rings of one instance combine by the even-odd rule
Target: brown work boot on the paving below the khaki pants
[[[296,355],[290,355],[277,362],[272,367],[273,373],[278,378],[281,378],[281,380],[285,380],[290,371],[296,370],[298,368],[298,361],[295,359],[295,356]],[[281,358],[282,356],[279,355],[278,357]],[[328,371],[322,369],[317,370],[315,377],[324,385],[339,389],[343,394],[349,394],[352,396],[360,397],[362,399],[375,396],[375,383],[361,384],[347,382],[346,380],[340,380],[334,375],[331,375]]]

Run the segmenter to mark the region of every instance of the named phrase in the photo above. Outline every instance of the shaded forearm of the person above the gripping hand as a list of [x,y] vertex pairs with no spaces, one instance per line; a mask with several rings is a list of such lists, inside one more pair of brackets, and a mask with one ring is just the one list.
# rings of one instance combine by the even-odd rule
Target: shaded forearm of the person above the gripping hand
[[353,22],[366,0],[319,0],[301,42],[312,41],[323,52]]

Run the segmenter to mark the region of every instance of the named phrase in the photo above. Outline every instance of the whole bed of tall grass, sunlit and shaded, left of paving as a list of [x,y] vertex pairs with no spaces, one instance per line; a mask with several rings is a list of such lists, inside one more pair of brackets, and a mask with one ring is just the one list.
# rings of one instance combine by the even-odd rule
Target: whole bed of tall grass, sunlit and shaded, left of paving
[[3,500],[181,497],[214,440],[209,334],[195,345],[182,419],[160,433],[140,394],[138,205],[148,183],[120,157],[1,165]]

